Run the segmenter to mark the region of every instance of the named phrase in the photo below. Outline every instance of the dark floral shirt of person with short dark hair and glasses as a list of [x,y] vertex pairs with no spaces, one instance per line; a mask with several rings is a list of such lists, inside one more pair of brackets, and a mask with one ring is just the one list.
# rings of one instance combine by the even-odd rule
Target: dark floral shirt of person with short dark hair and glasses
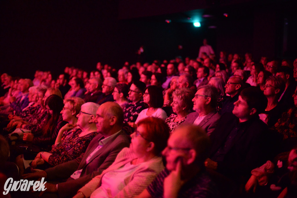
[[124,123],[135,122],[138,117],[138,114],[146,108],[148,107],[146,103],[143,102],[143,100],[136,102],[136,104],[133,104],[132,102],[126,104],[126,106],[123,109]]

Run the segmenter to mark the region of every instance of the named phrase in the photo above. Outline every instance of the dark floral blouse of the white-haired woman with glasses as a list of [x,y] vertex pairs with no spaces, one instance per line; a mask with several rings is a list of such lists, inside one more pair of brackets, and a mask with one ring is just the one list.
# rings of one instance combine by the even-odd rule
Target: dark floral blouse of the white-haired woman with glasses
[[75,159],[79,157],[81,153],[84,153],[91,140],[97,135],[97,132],[91,132],[79,137],[81,132],[81,129],[76,129],[69,139],[62,142],[61,146],[52,150],[52,155],[48,158],[48,164],[56,166]]

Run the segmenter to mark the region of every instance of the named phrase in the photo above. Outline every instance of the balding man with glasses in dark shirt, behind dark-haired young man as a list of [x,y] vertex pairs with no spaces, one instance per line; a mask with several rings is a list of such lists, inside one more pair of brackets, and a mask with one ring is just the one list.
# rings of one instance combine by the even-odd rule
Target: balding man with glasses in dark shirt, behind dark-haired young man
[[227,99],[223,106],[221,111],[219,112],[221,115],[224,115],[225,113],[231,113],[234,109],[234,102],[238,100],[238,96],[241,90],[241,87],[243,85],[243,82],[241,78],[238,77],[230,77],[228,82],[225,85],[226,94],[229,94],[230,98]]

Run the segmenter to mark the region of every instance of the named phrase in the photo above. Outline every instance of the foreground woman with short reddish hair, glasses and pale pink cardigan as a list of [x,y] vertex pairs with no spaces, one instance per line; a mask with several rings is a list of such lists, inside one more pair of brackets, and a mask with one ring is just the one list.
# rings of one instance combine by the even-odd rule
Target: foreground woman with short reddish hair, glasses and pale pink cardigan
[[75,195],[80,197],[135,197],[164,169],[161,151],[169,127],[160,118],[138,122],[129,148],[124,148],[110,167],[93,178]]

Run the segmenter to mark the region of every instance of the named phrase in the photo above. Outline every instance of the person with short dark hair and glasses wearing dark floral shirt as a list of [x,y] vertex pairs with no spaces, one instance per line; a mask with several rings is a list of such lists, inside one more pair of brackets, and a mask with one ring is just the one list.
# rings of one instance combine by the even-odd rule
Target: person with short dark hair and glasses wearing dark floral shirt
[[129,103],[124,107],[124,123],[133,125],[138,117],[138,114],[148,108],[143,102],[143,93],[146,89],[146,84],[141,81],[135,81],[130,86]]

